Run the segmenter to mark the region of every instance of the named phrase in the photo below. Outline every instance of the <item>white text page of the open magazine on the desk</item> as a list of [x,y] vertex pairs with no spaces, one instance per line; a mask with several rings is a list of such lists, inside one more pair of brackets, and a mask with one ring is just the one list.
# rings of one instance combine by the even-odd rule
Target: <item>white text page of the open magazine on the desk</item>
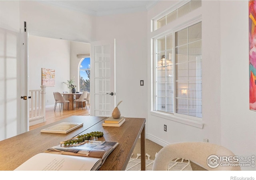
[[101,159],[69,156],[51,153],[39,153],[28,159],[15,170],[45,170],[45,171],[64,171],[64,170],[97,170],[101,165]]

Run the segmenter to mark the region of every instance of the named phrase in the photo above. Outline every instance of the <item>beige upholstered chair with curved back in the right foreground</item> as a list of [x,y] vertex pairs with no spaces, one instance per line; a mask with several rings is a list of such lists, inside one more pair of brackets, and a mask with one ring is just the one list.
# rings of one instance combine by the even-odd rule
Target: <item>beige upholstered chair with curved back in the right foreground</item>
[[209,156],[212,157],[212,155],[216,157],[235,156],[227,148],[209,142],[178,142],[169,144],[158,152],[152,170],[168,170],[168,164],[176,158],[190,160],[206,170],[241,170],[239,166],[220,166],[220,164],[216,168],[211,168],[207,162],[211,159]]

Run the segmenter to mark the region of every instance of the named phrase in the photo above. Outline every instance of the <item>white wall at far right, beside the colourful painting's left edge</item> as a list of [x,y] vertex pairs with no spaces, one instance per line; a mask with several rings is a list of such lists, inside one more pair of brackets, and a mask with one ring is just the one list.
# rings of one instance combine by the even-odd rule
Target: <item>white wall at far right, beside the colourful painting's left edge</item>
[[248,1],[221,1],[220,16],[221,144],[238,155],[252,156],[256,112],[249,110]]

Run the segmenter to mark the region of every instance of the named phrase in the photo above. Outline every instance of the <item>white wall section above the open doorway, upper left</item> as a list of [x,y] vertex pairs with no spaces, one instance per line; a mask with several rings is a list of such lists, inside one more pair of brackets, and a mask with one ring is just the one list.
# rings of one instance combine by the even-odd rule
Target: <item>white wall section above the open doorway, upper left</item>
[[90,42],[91,16],[42,2],[20,1],[20,27],[26,21],[33,35]]

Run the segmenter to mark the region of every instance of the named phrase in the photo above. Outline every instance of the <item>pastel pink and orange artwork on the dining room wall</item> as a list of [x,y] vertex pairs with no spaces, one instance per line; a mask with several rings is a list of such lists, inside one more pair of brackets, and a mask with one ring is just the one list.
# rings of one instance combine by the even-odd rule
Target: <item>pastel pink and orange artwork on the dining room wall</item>
[[55,70],[42,68],[42,85],[54,86],[55,85]]

